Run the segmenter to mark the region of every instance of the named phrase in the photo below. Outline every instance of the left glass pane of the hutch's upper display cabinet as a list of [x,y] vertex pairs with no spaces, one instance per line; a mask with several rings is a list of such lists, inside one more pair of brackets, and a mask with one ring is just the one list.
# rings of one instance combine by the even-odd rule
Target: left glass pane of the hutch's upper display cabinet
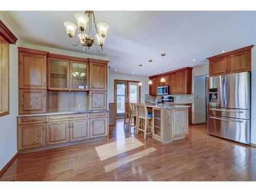
[[50,88],[68,87],[68,62],[50,59]]

